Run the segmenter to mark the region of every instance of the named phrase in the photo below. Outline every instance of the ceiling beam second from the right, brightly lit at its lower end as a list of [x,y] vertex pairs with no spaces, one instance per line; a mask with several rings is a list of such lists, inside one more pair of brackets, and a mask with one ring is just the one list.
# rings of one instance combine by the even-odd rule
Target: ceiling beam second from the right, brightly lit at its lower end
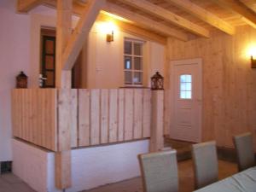
[[201,7],[197,6],[195,3],[191,3],[189,0],[166,0],[168,3],[172,3],[180,9],[188,12],[191,15],[207,22],[211,26],[215,26],[219,30],[226,32],[227,34],[234,35],[235,34],[235,27],[231,26],[224,20],[218,18],[218,16],[213,15],[206,9],[202,9]]

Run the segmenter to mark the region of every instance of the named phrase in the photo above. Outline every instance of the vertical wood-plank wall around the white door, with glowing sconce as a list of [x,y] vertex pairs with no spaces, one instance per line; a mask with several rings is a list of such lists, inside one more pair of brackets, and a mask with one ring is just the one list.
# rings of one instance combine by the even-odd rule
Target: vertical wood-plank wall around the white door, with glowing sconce
[[217,33],[187,43],[169,39],[170,60],[202,58],[202,139],[216,140],[218,147],[234,148],[232,137],[250,131],[256,151],[256,73],[247,56],[255,41],[256,30],[250,26],[236,27],[233,37]]

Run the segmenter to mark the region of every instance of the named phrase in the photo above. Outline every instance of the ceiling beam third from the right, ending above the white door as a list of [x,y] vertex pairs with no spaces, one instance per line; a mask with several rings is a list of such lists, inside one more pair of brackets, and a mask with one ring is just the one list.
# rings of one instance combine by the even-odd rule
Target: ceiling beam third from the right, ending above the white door
[[210,36],[210,32],[207,29],[198,26],[195,23],[190,22],[189,20],[185,20],[183,17],[175,15],[171,11],[163,9],[160,6],[155,5],[154,3],[149,3],[146,0],[122,0],[122,3],[128,4],[137,9],[141,9],[151,15],[158,16],[162,20],[172,22],[172,24],[182,27],[189,32],[193,32],[202,37],[209,38]]

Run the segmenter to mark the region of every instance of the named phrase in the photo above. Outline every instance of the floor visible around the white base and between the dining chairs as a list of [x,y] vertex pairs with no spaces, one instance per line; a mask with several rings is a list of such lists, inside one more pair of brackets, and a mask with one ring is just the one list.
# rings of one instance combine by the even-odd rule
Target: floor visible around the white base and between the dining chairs
[[[219,179],[229,177],[237,172],[236,164],[224,160],[218,160]],[[178,162],[180,192],[190,192],[194,189],[194,173],[192,160]],[[20,178],[11,173],[0,176],[0,192],[34,192]],[[140,177],[132,178],[123,182],[108,184],[97,189],[84,190],[84,192],[143,192]]]

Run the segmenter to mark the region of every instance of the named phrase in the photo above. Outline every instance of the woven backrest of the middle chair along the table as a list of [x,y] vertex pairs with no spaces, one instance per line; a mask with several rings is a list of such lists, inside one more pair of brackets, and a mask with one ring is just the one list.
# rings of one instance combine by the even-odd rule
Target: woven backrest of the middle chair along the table
[[218,181],[218,157],[216,142],[192,145],[195,172],[195,188],[200,189]]

